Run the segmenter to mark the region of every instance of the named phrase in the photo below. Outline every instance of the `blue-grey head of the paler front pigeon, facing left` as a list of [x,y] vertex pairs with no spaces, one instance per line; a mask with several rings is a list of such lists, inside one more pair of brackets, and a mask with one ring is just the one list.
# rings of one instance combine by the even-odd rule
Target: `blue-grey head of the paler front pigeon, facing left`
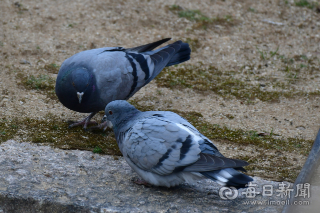
[[123,100],[116,100],[108,103],[104,109],[104,116],[101,122],[111,121],[113,129],[136,115],[139,110]]

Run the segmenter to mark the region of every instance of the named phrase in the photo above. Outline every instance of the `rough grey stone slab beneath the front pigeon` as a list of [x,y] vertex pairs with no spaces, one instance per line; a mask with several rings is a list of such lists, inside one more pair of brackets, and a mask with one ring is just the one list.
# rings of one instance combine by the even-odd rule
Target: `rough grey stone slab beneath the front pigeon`
[[[280,201],[278,182],[254,178],[256,191],[273,186],[273,196],[235,200],[219,197],[221,186],[204,180],[174,188],[136,185],[122,157],[59,150],[9,140],[0,145],[0,213],[275,213],[282,206],[244,205]],[[284,198],[283,198],[284,199]]]

